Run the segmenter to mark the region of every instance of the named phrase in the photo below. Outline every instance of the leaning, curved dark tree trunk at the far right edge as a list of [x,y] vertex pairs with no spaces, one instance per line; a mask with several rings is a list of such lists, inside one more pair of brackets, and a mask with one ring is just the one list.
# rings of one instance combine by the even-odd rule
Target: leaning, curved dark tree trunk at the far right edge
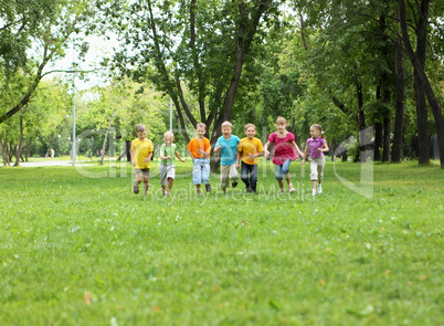
[[[417,2],[416,2],[417,3]],[[429,104],[432,107],[433,115],[435,118],[435,128],[437,136],[437,146],[440,149],[440,160],[441,168],[444,169],[444,123],[443,123],[443,112],[441,108],[441,104],[437,101],[435,94],[433,93],[432,85],[430,84],[429,77],[425,74],[424,65],[421,64],[419,57],[419,53],[413,51],[412,44],[409,39],[409,31],[406,28],[406,19],[405,19],[405,2],[404,0],[399,0],[400,4],[400,23],[402,31],[402,40],[405,46],[405,52],[409,55],[410,61],[413,64],[415,73],[417,74],[419,80],[421,81],[421,85],[425,92]],[[419,8],[420,23],[417,25],[417,34],[424,35],[424,42],[426,41],[426,28],[427,28],[427,14],[429,14],[429,0],[423,0],[421,2],[421,8]],[[420,31],[421,30],[421,31]],[[420,132],[420,130],[419,130]]]

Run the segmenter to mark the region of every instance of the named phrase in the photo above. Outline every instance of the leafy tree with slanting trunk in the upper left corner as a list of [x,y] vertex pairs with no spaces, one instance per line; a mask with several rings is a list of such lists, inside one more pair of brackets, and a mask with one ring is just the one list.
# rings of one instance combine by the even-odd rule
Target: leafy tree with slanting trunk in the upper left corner
[[[9,78],[11,73],[22,73],[27,87],[10,106],[0,111],[0,124],[20,112],[31,99],[40,81],[54,71],[44,72],[49,62],[64,56],[70,36],[80,32],[93,14],[89,0],[7,0],[0,27],[0,72]],[[2,2],[3,3],[3,2]],[[35,51],[33,56],[27,50]],[[39,50],[36,50],[39,49]],[[81,46],[87,50],[87,46]],[[36,52],[40,53],[38,54]],[[73,71],[71,71],[73,72]]]

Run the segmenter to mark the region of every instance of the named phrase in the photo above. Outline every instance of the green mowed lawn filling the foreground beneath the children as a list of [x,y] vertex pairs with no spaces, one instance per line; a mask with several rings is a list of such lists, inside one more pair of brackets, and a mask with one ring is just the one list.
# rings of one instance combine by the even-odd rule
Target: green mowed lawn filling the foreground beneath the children
[[[0,325],[440,325],[444,172],[328,161],[324,194],[292,164],[277,194],[195,196],[191,161],[146,201],[127,164],[0,168]],[[87,176],[87,177],[85,177]],[[359,186],[358,186],[359,188]]]

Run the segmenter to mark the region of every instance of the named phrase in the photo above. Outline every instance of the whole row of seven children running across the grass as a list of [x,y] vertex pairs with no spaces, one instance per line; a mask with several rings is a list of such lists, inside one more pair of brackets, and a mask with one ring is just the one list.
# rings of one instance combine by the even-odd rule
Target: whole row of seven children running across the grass
[[[273,164],[276,167],[276,180],[279,185],[281,192],[284,193],[284,179],[287,182],[288,191],[292,193],[295,188],[292,185],[289,177],[289,165],[299,156],[303,158],[302,165],[309,160],[310,164],[310,180],[311,193],[321,193],[321,182],[324,176],[325,157],[324,151],[328,151],[328,145],[323,135],[323,129],[319,125],[310,126],[310,138],[307,139],[305,154],[300,151],[295,143],[295,135],[287,130],[287,122],[284,117],[277,117],[276,132],[271,134],[265,146],[261,139],[256,138],[256,127],[253,124],[245,126],[245,138],[240,139],[232,135],[233,126],[230,122],[224,122],[221,126],[222,136],[219,137],[214,153],[221,153],[221,189],[225,193],[230,186],[235,188],[240,177],[239,169],[241,168],[241,179],[245,183],[247,192],[256,192],[257,186],[257,161],[258,157],[265,154],[265,158],[269,157],[268,147],[274,145]],[[136,171],[136,181],[134,183],[134,192],[139,192],[139,183],[144,180],[144,198],[147,196],[148,178],[150,169],[150,160],[152,157],[154,146],[151,140],[146,138],[147,130],[145,125],[137,125],[137,138],[131,143],[130,156],[131,165]],[[201,194],[201,185],[205,186],[207,192],[211,191],[210,186],[210,157],[211,144],[204,136],[207,126],[199,123],[195,126],[197,136],[190,140],[187,146],[190,157],[193,160],[192,181],[197,192]],[[169,196],[172,183],[176,177],[175,157],[180,161],[184,161],[177,150],[175,135],[171,132],[166,132],[163,135],[165,144],[160,147],[160,185],[163,196]],[[317,183],[317,187],[316,187]]]

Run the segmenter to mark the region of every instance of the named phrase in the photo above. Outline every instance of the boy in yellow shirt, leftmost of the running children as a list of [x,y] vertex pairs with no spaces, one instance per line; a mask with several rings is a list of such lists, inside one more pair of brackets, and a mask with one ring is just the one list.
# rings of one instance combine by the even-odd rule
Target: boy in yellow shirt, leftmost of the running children
[[139,193],[139,183],[144,176],[144,199],[147,197],[148,190],[148,177],[150,160],[154,151],[152,141],[147,137],[147,128],[145,125],[139,124],[136,127],[137,138],[131,141],[131,166],[136,171],[136,181],[134,182],[134,192]]

